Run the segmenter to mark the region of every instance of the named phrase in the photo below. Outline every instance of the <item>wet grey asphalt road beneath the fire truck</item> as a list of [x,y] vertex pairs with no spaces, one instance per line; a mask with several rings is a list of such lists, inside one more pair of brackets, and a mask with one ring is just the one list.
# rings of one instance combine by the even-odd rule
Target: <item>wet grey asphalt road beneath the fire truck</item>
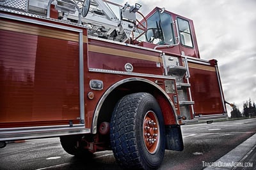
[[[243,157],[244,161],[248,161],[249,166],[253,161],[256,162],[256,149],[252,147],[256,144],[253,138],[256,136],[254,135],[256,133],[255,118],[183,125],[182,133],[184,151],[166,150],[159,169],[204,169],[207,163],[212,164],[216,160],[230,162],[232,161],[230,155],[244,151],[244,146],[241,145],[244,141],[252,145],[247,156],[241,155],[241,159]],[[230,155],[227,154],[228,152]],[[229,160],[220,159],[221,157],[228,157]],[[120,167],[116,164],[111,151],[97,152],[91,160],[77,159],[61,148],[58,138],[49,138],[28,140],[24,143],[8,143],[5,148],[0,149],[0,169],[120,169]],[[245,169],[256,169],[256,164]]]

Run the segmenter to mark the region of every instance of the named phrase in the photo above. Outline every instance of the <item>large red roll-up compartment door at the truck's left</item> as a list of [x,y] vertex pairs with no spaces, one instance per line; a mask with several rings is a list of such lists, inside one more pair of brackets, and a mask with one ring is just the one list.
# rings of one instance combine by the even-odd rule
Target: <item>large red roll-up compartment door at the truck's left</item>
[[0,127],[79,123],[79,34],[0,22]]

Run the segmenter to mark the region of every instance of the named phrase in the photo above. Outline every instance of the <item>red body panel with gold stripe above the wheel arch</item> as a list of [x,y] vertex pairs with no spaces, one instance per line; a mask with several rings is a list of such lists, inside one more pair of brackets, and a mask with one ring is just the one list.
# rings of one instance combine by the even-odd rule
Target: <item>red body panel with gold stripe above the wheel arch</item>
[[[163,74],[163,61],[159,52],[150,52],[95,39],[89,39],[88,44],[89,68],[125,71],[125,64],[130,63],[134,73]],[[93,47],[96,50],[93,50]]]

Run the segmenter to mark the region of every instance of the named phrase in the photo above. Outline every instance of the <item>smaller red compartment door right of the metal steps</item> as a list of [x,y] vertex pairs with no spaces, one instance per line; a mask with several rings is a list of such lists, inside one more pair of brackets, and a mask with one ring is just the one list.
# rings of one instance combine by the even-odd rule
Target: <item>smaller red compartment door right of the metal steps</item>
[[218,71],[214,66],[188,63],[191,83],[191,96],[195,116],[223,115],[225,113],[222,89],[218,81]]

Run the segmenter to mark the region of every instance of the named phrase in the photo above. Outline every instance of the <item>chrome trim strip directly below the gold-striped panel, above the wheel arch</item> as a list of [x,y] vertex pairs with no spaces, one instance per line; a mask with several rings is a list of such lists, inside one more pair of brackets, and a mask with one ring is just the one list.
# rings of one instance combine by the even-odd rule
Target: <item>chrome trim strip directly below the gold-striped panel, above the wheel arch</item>
[[125,71],[109,70],[109,69],[89,68],[89,71],[98,72],[98,73],[124,74],[124,75],[128,75],[128,76],[141,76],[141,77],[164,78],[164,79],[168,79],[168,80],[175,80],[175,77],[173,77],[173,76],[161,76],[161,75],[156,75],[156,74],[144,74],[144,73],[131,73],[131,72],[125,72]]

